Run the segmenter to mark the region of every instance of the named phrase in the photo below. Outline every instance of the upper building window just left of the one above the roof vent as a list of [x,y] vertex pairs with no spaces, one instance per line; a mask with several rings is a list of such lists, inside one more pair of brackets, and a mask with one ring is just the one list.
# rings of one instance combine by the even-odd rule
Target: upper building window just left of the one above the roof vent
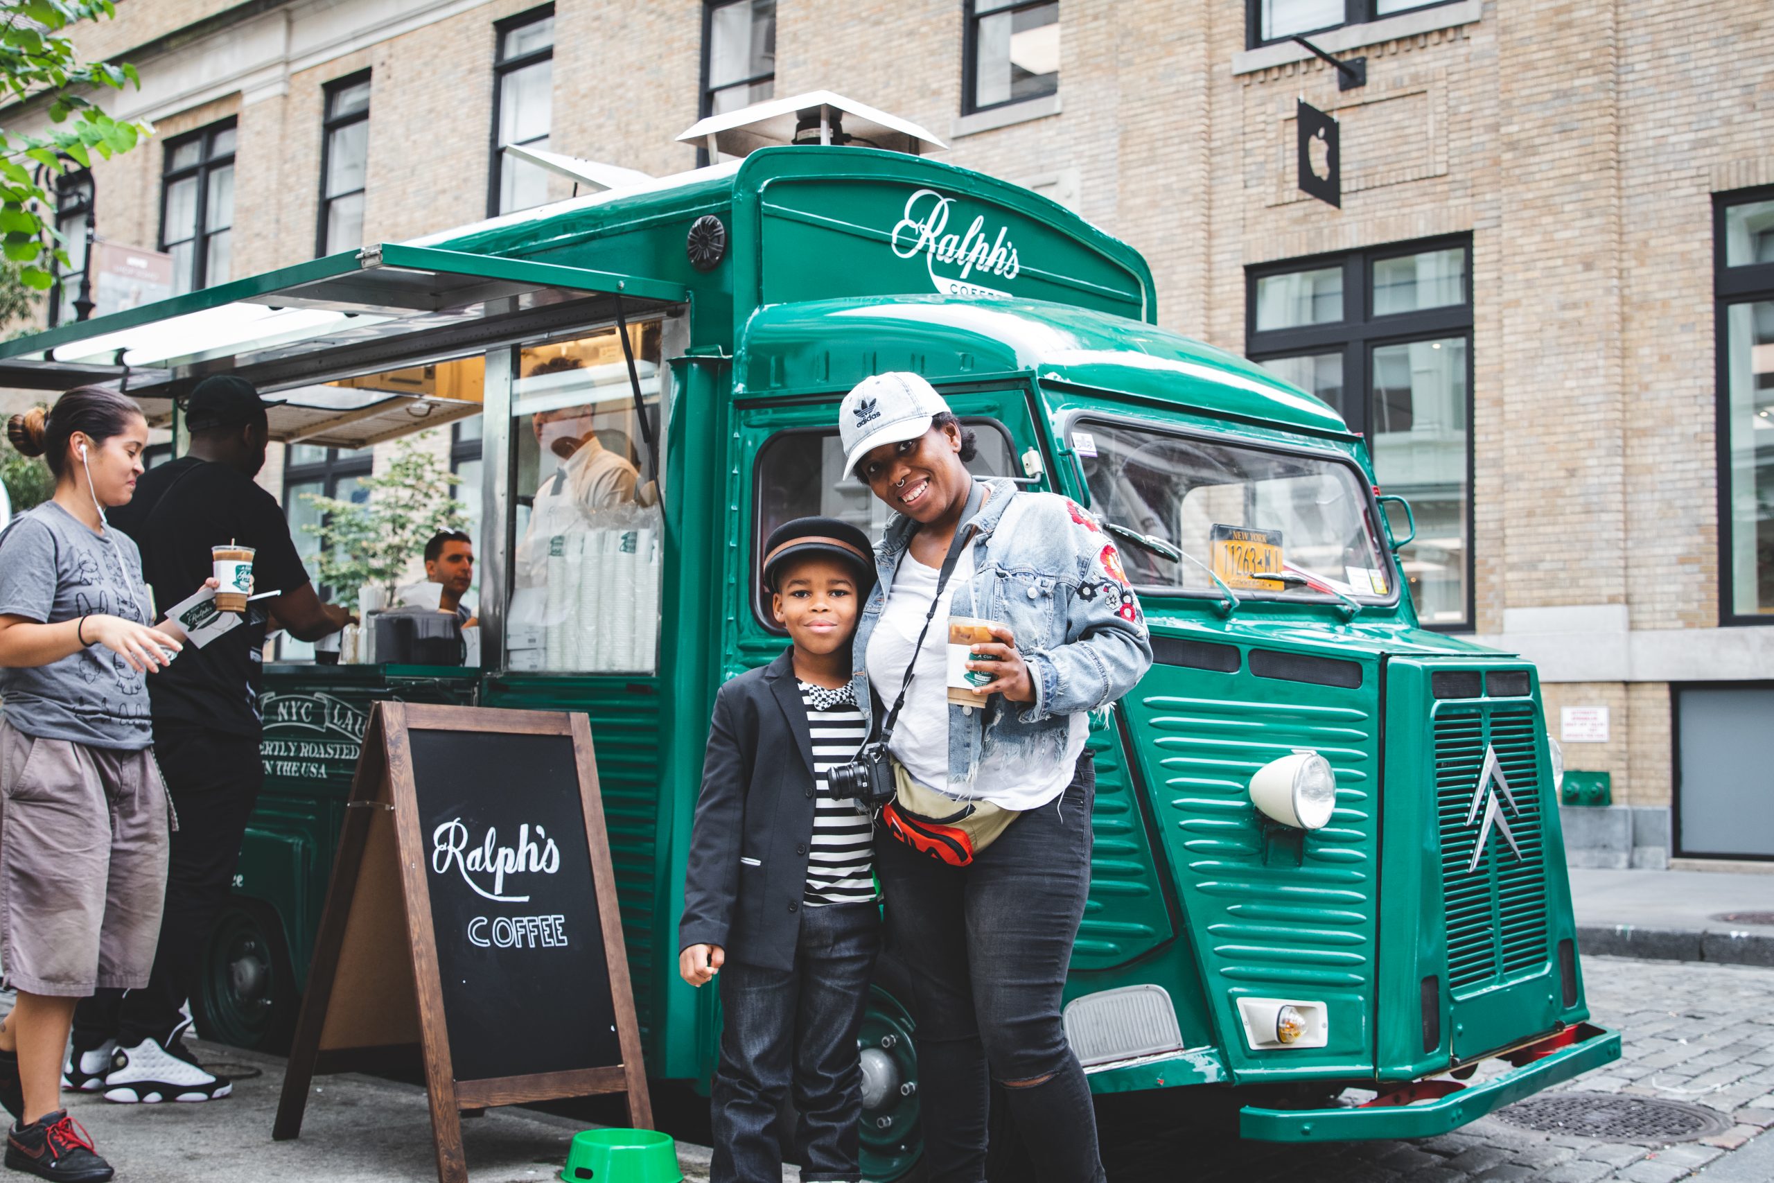
[[507,144],[548,147],[553,119],[553,5],[493,25],[493,177],[488,213],[529,209],[548,200],[548,174],[506,156]]

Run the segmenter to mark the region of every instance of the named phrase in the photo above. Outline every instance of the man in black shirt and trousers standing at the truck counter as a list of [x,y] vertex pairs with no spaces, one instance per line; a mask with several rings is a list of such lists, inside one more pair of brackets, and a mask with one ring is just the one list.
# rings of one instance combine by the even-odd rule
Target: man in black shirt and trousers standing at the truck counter
[[[151,468],[110,523],[142,550],[158,599],[211,575],[211,546],[257,553],[245,623],[206,647],[186,646],[149,686],[154,754],[177,816],[167,867],[167,906],[147,988],[99,990],[75,1015],[64,1084],[112,1101],[206,1101],[227,1096],[225,1077],[204,1071],[181,1039],[181,1007],[197,984],[204,942],[227,903],[247,818],[259,795],[259,688],[273,626],[300,640],[344,628],[351,615],[321,603],[277,500],[254,484],[264,466],[266,404],[245,378],[197,383],[186,406],[190,454]],[[160,603],[165,610],[170,603]]]

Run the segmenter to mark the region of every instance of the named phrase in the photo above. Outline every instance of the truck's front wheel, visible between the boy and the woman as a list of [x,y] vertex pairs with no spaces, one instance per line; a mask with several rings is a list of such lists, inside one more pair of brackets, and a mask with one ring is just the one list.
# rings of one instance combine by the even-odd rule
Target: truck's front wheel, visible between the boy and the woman
[[917,1023],[905,1006],[905,968],[882,954],[862,1015],[862,1178],[912,1183],[924,1176],[924,1133],[917,1119]]

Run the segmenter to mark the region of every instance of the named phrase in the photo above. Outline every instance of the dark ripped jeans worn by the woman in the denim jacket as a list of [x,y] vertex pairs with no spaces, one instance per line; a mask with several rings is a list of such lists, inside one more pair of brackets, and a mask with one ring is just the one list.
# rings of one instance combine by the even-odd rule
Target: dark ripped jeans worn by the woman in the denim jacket
[[[1041,1183],[1098,1183],[1096,1114],[1059,995],[1091,887],[1096,764],[1031,809],[969,867],[875,842],[887,942],[912,979],[930,1183],[986,1178],[990,1080]],[[990,1075],[988,1075],[990,1073]]]

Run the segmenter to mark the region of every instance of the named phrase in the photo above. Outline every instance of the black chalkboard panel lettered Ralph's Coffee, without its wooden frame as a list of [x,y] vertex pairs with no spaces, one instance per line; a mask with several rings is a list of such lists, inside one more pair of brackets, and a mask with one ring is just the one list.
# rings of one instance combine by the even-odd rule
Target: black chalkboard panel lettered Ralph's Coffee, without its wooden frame
[[621,1064],[571,736],[412,734],[459,1080]]

